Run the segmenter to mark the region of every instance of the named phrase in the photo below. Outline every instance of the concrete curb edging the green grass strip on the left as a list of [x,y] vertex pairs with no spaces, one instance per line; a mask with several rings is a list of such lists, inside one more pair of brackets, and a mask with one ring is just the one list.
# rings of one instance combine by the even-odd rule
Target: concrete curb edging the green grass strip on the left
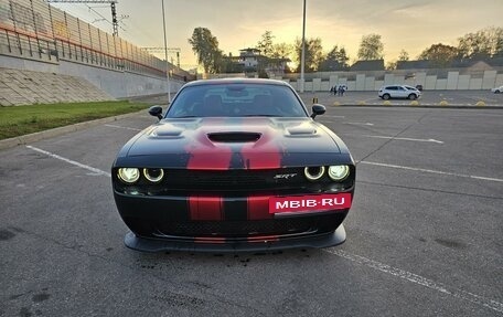
[[78,124],[74,124],[74,125],[69,125],[69,126],[49,129],[49,130],[44,130],[44,131],[40,131],[40,133],[34,133],[34,134],[29,134],[29,135],[24,135],[24,136],[3,139],[3,140],[0,140],[0,150],[13,148],[17,146],[23,146],[23,145],[31,144],[31,142],[36,142],[36,141],[40,141],[43,139],[49,139],[49,138],[65,135],[68,133],[84,130],[84,129],[87,129],[90,127],[99,126],[99,125],[107,124],[107,123],[113,123],[113,121],[120,120],[124,118],[133,117],[133,116],[137,116],[139,114],[145,114],[145,113],[146,113],[146,110],[140,110],[140,112],[136,112],[136,113],[130,113],[130,114],[125,114],[125,115],[119,115],[119,116],[114,116],[114,117],[106,117],[106,118],[100,118],[100,119],[96,119],[96,120],[84,121],[84,123],[78,123]]

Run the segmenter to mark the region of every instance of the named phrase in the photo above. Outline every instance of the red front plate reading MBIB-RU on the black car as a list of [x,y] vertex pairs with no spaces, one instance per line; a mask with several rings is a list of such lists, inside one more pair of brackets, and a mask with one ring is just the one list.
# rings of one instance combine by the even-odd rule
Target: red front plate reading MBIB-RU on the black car
[[323,211],[351,208],[351,193],[269,198],[269,213]]

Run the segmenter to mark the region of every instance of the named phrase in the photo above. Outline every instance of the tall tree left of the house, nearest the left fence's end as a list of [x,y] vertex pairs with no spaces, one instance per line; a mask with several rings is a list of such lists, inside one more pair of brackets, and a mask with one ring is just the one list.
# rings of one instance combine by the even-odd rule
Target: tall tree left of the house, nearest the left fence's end
[[218,40],[206,28],[195,28],[192,38],[189,39],[192,51],[197,55],[197,63],[203,65],[204,72],[215,73],[218,71],[218,62],[222,60],[222,51],[218,50]]

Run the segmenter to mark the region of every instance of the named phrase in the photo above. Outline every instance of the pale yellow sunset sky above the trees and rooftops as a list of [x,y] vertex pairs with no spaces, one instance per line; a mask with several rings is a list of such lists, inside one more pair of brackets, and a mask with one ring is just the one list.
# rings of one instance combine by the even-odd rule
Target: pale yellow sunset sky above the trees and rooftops
[[[128,15],[119,36],[138,46],[163,47],[161,3],[118,0],[118,17]],[[111,33],[109,4],[52,4]],[[188,39],[199,27],[217,38],[224,54],[255,46],[265,31],[271,31],[274,43],[293,44],[302,35],[302,6],[303,0],[164,0],[168,46],[180,47],[181,66],[191,68],[196,57]],[[503,28],[502,14],[503,0],[307,0],[306,38],[320,38],[325,52],[344,46],[352,63],[362,36],[376,33],[387,63],[402,50],[413,60],[431,44],[456,46],[467,33]]]

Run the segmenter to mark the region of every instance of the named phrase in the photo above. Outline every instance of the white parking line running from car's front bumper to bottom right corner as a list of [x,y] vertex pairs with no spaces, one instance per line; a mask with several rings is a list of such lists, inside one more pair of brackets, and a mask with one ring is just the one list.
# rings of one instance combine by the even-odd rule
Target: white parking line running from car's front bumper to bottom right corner
[[331,253],[331,254],[334,254],[334,255],[338,255],[338,256],[341,256],[341,257],[344,257],[344,258],[350,260],[352,262],[368,266],[371,268],[381,271],[383,273],[390,274],[393,276],[397,276],[397,277],[403,278],[403,279],[407,279],[407,281],[413,282],[415,284],[422,285],[422,286],[428,287],[430,289],[434,289],[434,290],[437,290],[437,292],[440,292],[440,293],[443,293],[443,294],[460,298],[462,300],[468,300],[468,302],[471,302],[471,303],[477,304],[477,305],[482,305],[482,306],[484,306],[484,307],[486,307],[489,309],[492,309],[492,310],[495,310],[495,311],[499,311],[499,313],[503,313],[503,304],[499,303],[496,300],[493,300],[493,299],[490,299],[490,298],[485,298],[483,296],[480,296],[480,295],[477,295],[477,294],[473,294],[473,293],[469,293],[469,292],[465,292],[465,290],[462,290],[462,289],[457,289],[457,288],[453,288],[453,287],[449,287],[447,285],[443,285],[441,283],[437,283],[437,282],[435,282],[432,279],[428,279],[428,278],[422,277],[420,275],[417,275],[417,274],[414,274],[414,273],[410,273],[410,272],[407,272],[407,271],[404,271],[404,270],[400,270],[400,268],[397,268],[397,267],[393,267],[393,266],[389,266],[387,264],[379,263],[377,261],[366,258],[364,256],[360,256],[360,255],[356,255],[356,254],[351,254],[351,253],[342,251],[342,250],[323,249],[323,251],[325,251],[328,253]]

